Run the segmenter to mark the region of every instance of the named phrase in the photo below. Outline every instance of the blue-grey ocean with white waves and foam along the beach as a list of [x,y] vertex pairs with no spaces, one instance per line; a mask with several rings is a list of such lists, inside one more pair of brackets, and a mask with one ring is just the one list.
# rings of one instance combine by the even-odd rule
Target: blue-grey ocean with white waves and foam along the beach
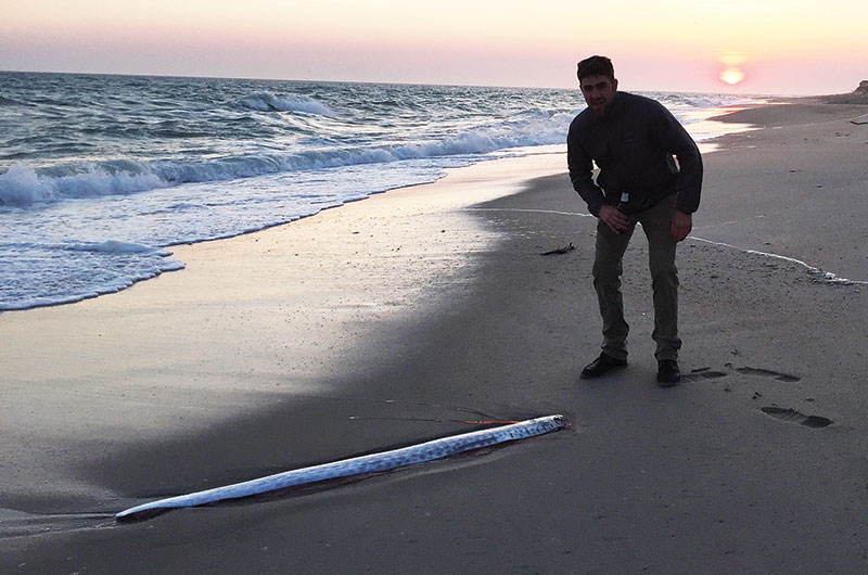
[[[642,93],[642,92],[639,92]],[[762,101],[646,93],[698,140]],[[0,73],[0,310],[178,270],[177,244],[565,150],[578,90]]]

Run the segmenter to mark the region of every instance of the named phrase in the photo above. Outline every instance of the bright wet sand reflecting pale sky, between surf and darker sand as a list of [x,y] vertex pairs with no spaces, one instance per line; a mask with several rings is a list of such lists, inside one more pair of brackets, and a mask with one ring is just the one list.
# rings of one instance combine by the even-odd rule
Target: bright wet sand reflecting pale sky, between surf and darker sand
[[[5,452],[28,471],[0,468],[0,508],[112,509],[122,504],[115,496],[64,469],[78,464],[76,452],[158,448],[256,410],[358,388],[347,381],[354,358],[394,345],[398,325],[437,315],[450,292],[469,289],[474,257],[502,241],[460,207],[557,171],[559,159],[477,164],[289,225],[179,245],[184,273],[0,315]],[[34,405],[38,419],[28,421]],[[50,447],[29,462],[34,440]],[[35,488],[35,472],[51,478],[44,488]]]

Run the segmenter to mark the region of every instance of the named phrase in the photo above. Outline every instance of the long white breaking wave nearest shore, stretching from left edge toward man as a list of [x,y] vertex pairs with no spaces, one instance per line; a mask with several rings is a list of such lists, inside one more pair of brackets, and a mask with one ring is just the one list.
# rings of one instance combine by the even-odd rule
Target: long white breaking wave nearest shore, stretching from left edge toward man
[[572,117],[571,113],[532,110],[505,122],[471,128],[442,140],[331,146],[298,152],[258,152],[212,161],[112,161],[90,164],[86,168],[55,167],[50,174],[20,163],[0,175],[0,205],[21,208],[64,200],[125,195],[181,183],[226,181],[361,164],[449,156],[481,159],[485,154],[501,150],[563,143]]

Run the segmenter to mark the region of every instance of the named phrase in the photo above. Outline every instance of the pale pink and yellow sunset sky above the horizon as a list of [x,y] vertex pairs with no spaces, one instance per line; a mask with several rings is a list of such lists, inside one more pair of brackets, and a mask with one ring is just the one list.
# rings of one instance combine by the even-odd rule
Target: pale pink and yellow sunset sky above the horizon
[[7,71],[563,88],[602,53],[625,90],[819,94],[868,79],[866,0],[0,5]]

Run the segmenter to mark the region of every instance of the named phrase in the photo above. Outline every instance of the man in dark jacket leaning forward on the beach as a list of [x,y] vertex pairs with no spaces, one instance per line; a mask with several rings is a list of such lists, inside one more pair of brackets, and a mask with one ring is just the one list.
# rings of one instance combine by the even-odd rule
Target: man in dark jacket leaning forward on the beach
[[[622,257],[639,222],[648,238],[654,292],[658,384],[677,385],[681,341],[675,246],[692,229],[702,158],[695,142],[662,104],[617,91],[611,60],[599,55],[583,60],[577,75],[588,107],[570,125],[566,155],[573,188],[599,218],[593,288],[603,320],[602,353],[582,376],[598,378],[627,366]],[[591,162],[600,168],[596,182]]]

